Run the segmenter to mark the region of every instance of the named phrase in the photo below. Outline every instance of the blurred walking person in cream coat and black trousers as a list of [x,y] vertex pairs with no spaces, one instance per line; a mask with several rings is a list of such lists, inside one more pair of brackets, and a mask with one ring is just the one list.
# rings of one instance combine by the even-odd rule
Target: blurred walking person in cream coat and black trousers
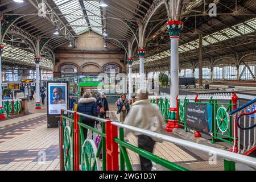
[[[143,91],[145,93],[143,93]],[[156,133],[164,133],[165,121],[159,111],[159,107],[150,103],[148,100],[148,93],[145,89],[139,89],[137,95],[138,101],[132,104],[124,124],[154,131]],[[125,135],[129,132],[129,130],[125,130]],[[142,148],[143,150],[151,153],[154,150],[155,142],[162,142],[162,140],[151,138],[137,132],[134,134],[138,136],[139,148]],[[141,170],[150,171],[152,168],[151,160],[146,159],[141,155],[139,156],[139,159],[141,161]]]

